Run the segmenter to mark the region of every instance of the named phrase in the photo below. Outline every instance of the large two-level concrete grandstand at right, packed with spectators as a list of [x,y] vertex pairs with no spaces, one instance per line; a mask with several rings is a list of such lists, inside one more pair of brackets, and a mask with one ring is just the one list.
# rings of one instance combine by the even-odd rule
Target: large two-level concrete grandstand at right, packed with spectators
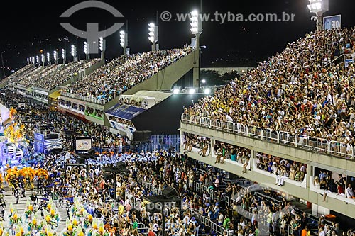
[[354,217],[355,70],[344,60],[354,38],[354,28],[308,33],[184,108],[182,149],[314,213]]

